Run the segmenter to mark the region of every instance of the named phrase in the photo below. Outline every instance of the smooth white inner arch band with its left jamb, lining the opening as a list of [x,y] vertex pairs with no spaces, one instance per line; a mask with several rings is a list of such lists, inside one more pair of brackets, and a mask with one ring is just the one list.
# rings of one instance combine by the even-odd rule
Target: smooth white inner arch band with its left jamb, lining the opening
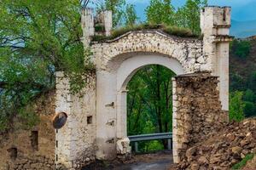
[[174,71],[176,75],[184,74],[182,65],[177,59],[160,54],[137,54],[125,59],[117,71],[117,138],[127,138],[126,130],[126,94],[127,84],[131,77],[145,65],[163,65]]

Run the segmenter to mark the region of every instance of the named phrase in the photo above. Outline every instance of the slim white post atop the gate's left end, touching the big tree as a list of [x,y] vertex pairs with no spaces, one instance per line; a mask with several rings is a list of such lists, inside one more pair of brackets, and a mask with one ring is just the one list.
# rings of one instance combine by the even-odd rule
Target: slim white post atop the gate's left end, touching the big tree
[[83,30],[82,42],[84,46],[88,47],[90,44],[90,37],[94,36],[94,16],[93,8],[83,8],[81,14],[81,25]]

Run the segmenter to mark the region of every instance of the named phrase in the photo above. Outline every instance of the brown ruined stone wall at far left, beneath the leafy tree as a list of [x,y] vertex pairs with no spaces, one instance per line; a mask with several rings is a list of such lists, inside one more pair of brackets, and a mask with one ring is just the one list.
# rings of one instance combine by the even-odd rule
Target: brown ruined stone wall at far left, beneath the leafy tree
[[33,107],[40,118],[36,127],[23,129],[16,120],[15,129],[0,136],[1,170],[55,169],[55,92],[44,94]]

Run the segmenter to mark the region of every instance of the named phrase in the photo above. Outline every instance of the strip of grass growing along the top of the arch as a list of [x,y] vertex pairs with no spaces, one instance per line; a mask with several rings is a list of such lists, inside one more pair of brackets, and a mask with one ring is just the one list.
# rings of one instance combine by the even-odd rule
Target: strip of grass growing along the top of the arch
[[135,25],[135,26],[125,26],[125,27],[121,27],[119,29],[113,30],[111,32],[110,37],[95,35],[92,38],[92,41],[101,42],[101,41],[111,40],[116,37],[120,37],[129,31],[143,31],[143,30],[160,30],[160,31],[166,32],[166,34],[177,36],[177,37],[199,37],[198,35],[193,34],[192,31],[190,31],[187,28],[180,28],[177,26],[142,24],[142,25]]

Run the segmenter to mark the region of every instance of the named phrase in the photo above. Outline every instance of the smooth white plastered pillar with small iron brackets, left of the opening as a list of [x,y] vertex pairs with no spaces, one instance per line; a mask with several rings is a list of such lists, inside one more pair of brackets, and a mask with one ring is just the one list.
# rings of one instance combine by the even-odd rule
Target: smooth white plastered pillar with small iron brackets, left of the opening
[[96,158],[116,158],[116,76],[109,71],[96,71]]

